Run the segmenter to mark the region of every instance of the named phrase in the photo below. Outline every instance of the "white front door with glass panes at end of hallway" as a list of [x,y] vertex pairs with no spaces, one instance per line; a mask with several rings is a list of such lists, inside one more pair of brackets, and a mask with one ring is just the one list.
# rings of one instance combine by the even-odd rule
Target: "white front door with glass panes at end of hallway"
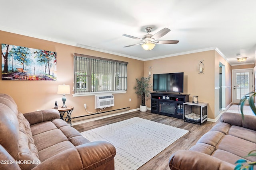
[[[233,70],[233,102],[238,104],[242,97],[252,92],[253,80],[252,76],[253,69],[238,69]],[[248,101],[246,101],[248,104]]]

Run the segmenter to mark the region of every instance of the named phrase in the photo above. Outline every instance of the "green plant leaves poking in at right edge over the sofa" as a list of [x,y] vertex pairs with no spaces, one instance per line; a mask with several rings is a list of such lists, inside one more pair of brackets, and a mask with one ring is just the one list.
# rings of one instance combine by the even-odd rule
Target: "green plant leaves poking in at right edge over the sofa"
[[[250,94],[252,94],[250,96]],[[249,94],[245,95],[241,100],[240,100],[240,111],[242,114],[242,118],[244,119],[244,104],[248,100],[249,106],[251,107],[254,115],[256,115],[256,107],[254,105],[254,97],[256,96],[256,92],[250,92]],[[244,156],[244,158],[249,157],[249,156],[256,156],[256,150],[252,150],[251,152],[248,153],[248,155]],[[248,162],[246,159],[239,159],[236,161],[236,167],[234,170],[253,170],[254,165],[256,165],[256,162]]]

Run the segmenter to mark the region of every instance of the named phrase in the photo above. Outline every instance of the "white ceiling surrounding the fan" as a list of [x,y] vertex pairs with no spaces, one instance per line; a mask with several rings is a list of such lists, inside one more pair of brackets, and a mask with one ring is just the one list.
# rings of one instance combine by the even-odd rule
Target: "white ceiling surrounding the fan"
[[[145,51],[147,26],[171,29]],[[232,65],[255,62],[256,0],[2,0],[0,30],[143,61],[216,49]]]

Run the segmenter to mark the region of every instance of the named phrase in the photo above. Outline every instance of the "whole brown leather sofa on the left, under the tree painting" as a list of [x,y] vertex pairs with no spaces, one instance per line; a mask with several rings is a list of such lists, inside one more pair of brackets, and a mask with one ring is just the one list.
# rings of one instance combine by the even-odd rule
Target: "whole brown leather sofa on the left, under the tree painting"
[[90,142],[55,109],[22,114],[0,94],[0,169],[114,170],[115,147]]

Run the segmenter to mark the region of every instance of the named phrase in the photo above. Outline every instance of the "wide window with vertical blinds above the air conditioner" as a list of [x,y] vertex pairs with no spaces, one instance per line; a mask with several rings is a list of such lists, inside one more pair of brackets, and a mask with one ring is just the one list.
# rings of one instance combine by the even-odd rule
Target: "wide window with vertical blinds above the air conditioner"
[[125,92],[127,62],[74,54],[75,94]]

